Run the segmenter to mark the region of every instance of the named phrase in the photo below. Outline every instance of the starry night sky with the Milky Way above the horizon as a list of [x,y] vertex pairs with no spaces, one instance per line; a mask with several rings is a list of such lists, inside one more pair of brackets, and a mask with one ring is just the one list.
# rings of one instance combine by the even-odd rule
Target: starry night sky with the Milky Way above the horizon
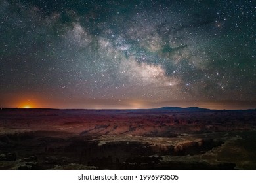
[[256,108],[256,1],[0,1],[0,107]]

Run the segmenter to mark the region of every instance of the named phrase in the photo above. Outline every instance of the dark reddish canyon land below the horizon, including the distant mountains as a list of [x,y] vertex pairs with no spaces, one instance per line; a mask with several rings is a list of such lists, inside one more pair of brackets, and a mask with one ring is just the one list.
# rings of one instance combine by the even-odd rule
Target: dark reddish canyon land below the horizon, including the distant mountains
[[256,110],[0,110],[0,169],[256,169]]

